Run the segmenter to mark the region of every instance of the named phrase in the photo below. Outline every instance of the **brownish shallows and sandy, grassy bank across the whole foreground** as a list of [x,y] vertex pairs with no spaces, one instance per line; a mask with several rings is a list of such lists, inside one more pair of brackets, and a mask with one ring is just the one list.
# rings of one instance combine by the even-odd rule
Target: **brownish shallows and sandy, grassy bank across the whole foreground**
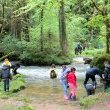
[[103,92],[102,85],[98,85],[95,95],[86,97],[83,79],[77,83],[77,101],[69,101],[64,99],[58,79],[55,88],[51,80],[27,82],[24,90],[0,99],[0,110],[100,110],[102,105],[106,106],[101,110],[109,110],[110,94]]

